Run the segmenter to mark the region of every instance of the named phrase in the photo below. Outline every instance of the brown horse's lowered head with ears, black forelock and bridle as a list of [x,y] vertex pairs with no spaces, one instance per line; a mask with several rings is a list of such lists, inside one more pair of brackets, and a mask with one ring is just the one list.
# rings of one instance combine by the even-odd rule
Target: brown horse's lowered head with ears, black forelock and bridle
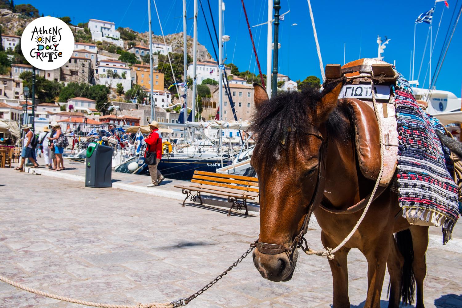
[[261,86],[254,86],[252,166],[260,186],[254,264],[264,278],[287,281],[297,262],[297,236],[324,193],[327,130],[323,123],[337,107],[342,84],[328,85],[322,92],[284,92],[271,100]]

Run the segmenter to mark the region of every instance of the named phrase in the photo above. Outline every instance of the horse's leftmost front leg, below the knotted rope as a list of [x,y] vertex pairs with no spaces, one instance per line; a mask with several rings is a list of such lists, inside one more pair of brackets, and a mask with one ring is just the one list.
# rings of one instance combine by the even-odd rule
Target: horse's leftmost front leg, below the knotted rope
[[[337,244],[332,242],[324,232],[321,232],[321,241],[324,247],[337,246]],[[341,248],[335,253],[334,260],[329,260],[334,284],[333,308],[350,308],[350,298],[348,297],[348,267],[346,264],[346,257],[349,251],[349,248]]]

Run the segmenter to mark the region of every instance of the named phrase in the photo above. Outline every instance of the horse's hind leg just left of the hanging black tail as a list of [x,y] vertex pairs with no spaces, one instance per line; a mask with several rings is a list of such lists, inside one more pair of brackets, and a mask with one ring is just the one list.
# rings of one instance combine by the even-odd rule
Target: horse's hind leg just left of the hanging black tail
[[404,258],[396,246],[395,238],[390,241],[390,253],[388,255],[387,267],[390,274],[390,293],[388,308],[399,308],[401,298],[401,268]]

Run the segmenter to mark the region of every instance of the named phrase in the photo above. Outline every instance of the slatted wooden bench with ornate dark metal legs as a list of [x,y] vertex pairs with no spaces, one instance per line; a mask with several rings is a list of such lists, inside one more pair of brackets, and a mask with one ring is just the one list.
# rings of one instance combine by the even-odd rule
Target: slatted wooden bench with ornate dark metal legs
[[256,177],[243,175],[225,175],[215,172],[194,171],[191,183],[188,185],[175,185],[182,189],[186,194],[183,205],[187,199],[191,202],[199,199],[202,205],[201,193],[207,193],[216,196],[228,198],[231,202],[228,216],[231,216],[231,210],[237,211],[245,207],[245,214],[249,214],[247,209],[247,200],[255,200],[259,196],[258,179]]

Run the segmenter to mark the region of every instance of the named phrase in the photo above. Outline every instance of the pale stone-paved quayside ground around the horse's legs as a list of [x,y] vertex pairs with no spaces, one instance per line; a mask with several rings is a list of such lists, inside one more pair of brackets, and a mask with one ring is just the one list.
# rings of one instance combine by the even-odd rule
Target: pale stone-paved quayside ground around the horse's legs
[[[258,217],[181,207],[114,188],[0,169],[0,275],[27,286],[79,299],[135,304],[187,297],[231,265],[258,234]],[[319,229],[307,238],[320,248]],[[462,307],[462,229],[441,246],[432,228],[427,254],[426,307]],[[352,307],[364,305],[367,265],[349,254]],[[324,307],[332,303],[326,259],[302,256],[286,283],[261,278],[247,258],[191,308]],[[382,307],[387,307],[386,286]],[[79,307],[0,282],[1,308]]]

